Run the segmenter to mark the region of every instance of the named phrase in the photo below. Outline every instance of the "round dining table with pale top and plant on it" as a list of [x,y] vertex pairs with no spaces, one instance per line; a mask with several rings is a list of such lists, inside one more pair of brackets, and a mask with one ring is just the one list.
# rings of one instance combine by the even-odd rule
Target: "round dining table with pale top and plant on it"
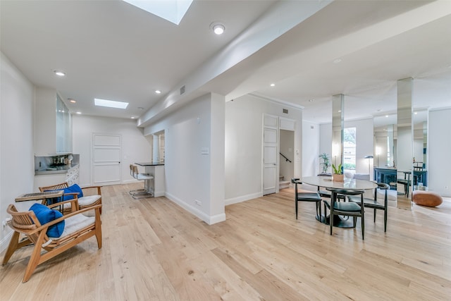
[[[370,190],[377,188],[375,182],[369,180],[358,180],[354,178],[345,178],[343,182],[332,180],[331,176],[310,176],[303,177],[301,182],[303,184],[317,186],[318,188],[342,189],[342,190]],[[326,211],[326,210],[325,210]],[[326,212],[324,212],[326,214]],[[319,221],[329,224],[329,216],[321,216]],[[333,226],[340,228],[352,228],[354,225],[352,221],[342,219],[340,216],[334,216]]]

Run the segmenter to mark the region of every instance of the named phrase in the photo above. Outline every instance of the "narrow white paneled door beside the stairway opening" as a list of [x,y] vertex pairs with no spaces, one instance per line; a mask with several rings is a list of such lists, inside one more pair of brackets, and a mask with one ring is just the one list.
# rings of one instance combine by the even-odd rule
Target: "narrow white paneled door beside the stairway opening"
[[263,195],[278,192],[278,117],[263,116]]

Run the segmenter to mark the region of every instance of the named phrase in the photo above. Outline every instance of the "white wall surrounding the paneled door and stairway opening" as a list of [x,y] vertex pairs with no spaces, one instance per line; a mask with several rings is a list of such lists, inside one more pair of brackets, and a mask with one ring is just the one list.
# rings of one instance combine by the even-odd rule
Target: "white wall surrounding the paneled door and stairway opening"
[[[288,114],[283,113],[288,109]],[[302,110],[254,95],[226,103],[226,204],[242,202],[262,195],[261,136],[263,113],[296,121],[295,176],[302,172]]]

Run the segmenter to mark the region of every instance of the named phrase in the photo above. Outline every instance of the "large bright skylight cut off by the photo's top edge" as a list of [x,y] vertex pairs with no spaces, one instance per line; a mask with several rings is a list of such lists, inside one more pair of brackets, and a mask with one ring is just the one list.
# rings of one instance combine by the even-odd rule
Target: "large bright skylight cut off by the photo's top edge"
[[193,0],[123,0],[176,25],[185,16]]

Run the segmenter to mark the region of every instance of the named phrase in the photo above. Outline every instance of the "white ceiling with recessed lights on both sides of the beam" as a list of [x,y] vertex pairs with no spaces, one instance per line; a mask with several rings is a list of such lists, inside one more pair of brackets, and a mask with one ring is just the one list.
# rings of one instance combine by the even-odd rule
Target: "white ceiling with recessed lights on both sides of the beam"
[[[72,111],[137,117],[277,2],[194,0],[174,25],[123,1],[1,0],[1,51],[35,85],[76,99]],[[222,36],[209,28],[218,20]],[[451,1],[333,1],[199,91],[278,99],[324,123],[333,94],[345,94],[345,119],[394,113],[407,77],[417,109],[451,106]],[[96,108],[94,97],[130,105]]]

